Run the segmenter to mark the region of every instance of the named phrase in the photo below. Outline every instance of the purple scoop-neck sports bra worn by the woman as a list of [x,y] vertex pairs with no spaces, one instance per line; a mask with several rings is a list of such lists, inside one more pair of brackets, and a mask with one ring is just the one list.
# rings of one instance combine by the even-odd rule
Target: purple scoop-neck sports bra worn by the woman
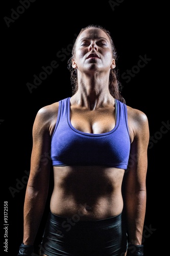
[[127,106],[115,101],[115,127],[102,134],[76,130],[70,122],[70,97],[59,101],[51,142],[53,165],[103,165],[127,169],[130,154]]

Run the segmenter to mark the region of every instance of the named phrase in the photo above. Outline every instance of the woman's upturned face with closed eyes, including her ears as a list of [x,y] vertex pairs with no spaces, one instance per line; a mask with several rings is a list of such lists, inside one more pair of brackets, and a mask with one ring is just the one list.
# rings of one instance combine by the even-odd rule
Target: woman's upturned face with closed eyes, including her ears
[[78,36],[72,67],[82,72],[115,68],[110,39],[103,30],[89,28]]

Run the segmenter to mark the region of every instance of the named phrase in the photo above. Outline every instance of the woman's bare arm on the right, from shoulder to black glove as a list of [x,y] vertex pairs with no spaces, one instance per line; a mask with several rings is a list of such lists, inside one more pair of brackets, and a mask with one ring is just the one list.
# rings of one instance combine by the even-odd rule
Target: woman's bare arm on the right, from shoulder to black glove
[[148,118],[143,112],[131,109],[129,126],[133,141],[125,174],[127,232],[129,245],[141,245],[147,201]]

